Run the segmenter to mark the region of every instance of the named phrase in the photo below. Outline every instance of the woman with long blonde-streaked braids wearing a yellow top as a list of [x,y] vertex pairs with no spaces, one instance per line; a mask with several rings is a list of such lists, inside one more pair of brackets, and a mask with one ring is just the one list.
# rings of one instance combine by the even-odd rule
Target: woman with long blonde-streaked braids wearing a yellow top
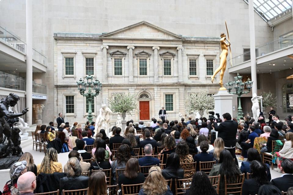
[[62,164],[58,162],[57,150],[54,148],[49,148],[44,156],[44,159],[41,164],[37,166],[38,174],[40,173],[54,173],[54,172],[63,172]]

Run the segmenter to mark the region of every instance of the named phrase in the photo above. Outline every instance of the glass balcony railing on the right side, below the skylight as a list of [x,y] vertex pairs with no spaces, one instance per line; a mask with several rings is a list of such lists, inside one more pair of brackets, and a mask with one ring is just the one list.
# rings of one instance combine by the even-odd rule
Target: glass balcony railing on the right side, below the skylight
[[[269,42],[266,45],[259,46],[256,48],[256,57],[264,56],[268,53],[289,47],[291,45],[293,45],[293,34],[288,37],[282,37],[273,42]],[[244,52],[243,54],[232,58],[232,65],[235,66],[248,60],[250,60],[250,51]],[[230,64],[230,60],[227,63]]]

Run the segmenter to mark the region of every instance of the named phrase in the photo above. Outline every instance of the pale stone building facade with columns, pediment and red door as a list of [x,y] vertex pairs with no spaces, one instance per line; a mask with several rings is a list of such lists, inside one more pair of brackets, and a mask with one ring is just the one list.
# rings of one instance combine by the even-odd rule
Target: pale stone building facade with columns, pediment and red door
[[[182,37],[142,21],[107,34],[55,33],[55,115],[64,112],[70,123],[85,122],[87,104],[76,81],[93,74],[102,82],[93,115],[115,92],[135,94],[137,110],[126,120],[149,121],[164,106],[169,119],[186,113],[190,93],[218,91],[219,39]],[[62,70],[62,71],[61,71]],[[65,104],[65,106],[64,106]],[[116,115],[112,115],[115,122]]]

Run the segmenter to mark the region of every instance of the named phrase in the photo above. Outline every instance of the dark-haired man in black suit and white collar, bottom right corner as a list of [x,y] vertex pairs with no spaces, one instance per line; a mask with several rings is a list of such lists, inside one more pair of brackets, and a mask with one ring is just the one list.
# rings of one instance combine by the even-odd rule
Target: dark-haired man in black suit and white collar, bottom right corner
[[281,177],[272,179],[272,184],[280,191],[287,192],[288,188],[293,186],[293,161],[284,158],[281,163]]

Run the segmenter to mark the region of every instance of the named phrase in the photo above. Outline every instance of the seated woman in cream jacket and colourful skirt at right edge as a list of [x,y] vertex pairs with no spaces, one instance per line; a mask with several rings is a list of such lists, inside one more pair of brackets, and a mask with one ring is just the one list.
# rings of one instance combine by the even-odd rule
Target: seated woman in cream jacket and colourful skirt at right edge
[[286,141],[284,143],[282,150],[274,153],[272,162],[276,162],[278,165],[277,168],[274,168],[275,171],[281,172],[281,163],[285,158],[293,160],[293,133],[291,132],[286,134]]

